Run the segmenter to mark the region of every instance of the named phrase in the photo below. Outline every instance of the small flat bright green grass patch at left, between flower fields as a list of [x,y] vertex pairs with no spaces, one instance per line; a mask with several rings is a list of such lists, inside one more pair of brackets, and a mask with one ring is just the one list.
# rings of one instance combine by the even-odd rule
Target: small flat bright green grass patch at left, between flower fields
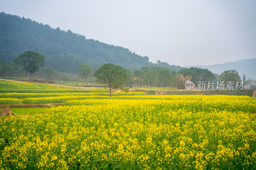
[[10,109],[14,113],[14,116],[19,115],[35,115],[45,113],[45,108],[12,108]]

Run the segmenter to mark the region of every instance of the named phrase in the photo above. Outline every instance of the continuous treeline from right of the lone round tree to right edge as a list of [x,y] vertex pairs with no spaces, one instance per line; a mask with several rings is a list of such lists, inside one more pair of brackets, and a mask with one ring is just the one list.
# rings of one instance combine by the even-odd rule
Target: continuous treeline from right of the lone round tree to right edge
[[[128,75],[127,86],[133,84],[134,86],[185,89],[185,82],[190,80],[195,84],[196,89],[256,89],[256,81],[247,79],[245,74],[241,78],[236,70],[226,70],[219,75],[198,67],[182,68],[175,71],[167,67],[149,66],[141,67],[133,72],[126,69],[126,72]],[[218,86],[218,82],[223,83],[223,86]],[[237,88],[236,85],[238,85]]]

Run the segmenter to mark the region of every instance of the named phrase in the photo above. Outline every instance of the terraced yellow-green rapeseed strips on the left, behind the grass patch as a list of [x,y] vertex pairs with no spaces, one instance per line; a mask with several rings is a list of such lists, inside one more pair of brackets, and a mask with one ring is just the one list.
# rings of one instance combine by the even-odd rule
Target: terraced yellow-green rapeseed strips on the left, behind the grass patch
[[[66,100],[109,98],[106,89],[66,89],[48,84],[0,81],[0,104],[62,103]],[[145,95],[143,92],[113,93],[113,96]]]

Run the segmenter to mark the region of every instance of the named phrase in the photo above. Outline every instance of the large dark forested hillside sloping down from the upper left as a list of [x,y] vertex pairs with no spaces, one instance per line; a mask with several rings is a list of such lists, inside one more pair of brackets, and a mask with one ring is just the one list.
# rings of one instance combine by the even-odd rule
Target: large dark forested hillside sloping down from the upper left
[[182,67],[166,62],[149,62],[147,56],[132,53],[129,49],[108,45],[70,30],[52,28],[31,19],[0,13],[0,60],[13,62],[25,51],[37,51],[46,57],[44,67],[53,67],[63,73],[77,73],[81,64],[89,64],[96,71],[105,63],[129,68],[131,71],[143,66],[163,66],[173,70]]

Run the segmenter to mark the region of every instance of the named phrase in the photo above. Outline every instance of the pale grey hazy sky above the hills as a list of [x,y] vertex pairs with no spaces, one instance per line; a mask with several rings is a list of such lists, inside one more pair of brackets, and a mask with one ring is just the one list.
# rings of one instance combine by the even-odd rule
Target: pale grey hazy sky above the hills
[[5,13],[180,66],[255,58],[255,9],[256,0],[0,0]]

